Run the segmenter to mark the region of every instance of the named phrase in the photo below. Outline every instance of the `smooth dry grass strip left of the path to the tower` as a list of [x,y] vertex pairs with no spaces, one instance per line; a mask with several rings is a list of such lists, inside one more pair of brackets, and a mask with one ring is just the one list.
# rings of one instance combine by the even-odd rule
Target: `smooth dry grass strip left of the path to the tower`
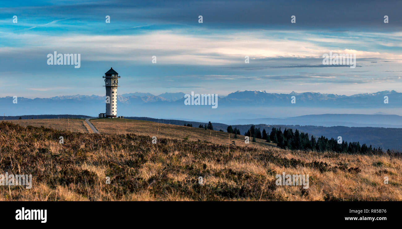
[[6,120],[21,126],[47,127],[56,130],[68,130],[80,133],[92,133],[92,130],[86,124],[84,119],[21,119]]

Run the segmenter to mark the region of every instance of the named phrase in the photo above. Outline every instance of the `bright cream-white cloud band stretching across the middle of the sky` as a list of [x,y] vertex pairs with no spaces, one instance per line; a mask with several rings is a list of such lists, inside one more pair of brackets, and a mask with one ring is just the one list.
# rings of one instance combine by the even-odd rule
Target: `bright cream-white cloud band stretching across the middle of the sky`
[[[302,32],[292,32],[301,34]],[[22,47],[7,47],[9,52],[80,53],[82,61],[123,61],[151,63],[152,56],[158,64],[185,64],[224,66],[244,64],[244,57],[250,63],[264,62],[273,58],[322,59],[322,55],[333,53],[354,53],[359,58],[382,58],[402,60],[399,53],[370,52],[356,49],[334,49],[313,44],[308,40],[289,41],[278,38],[286,32],[275,35],[264,32],[232,32],[217,35],[193,35],[182,30],[151,31],[134,35],[36,35],[36,39],[25,39],[25,34],[3,34],[21,42]],[[32,35],[31,35],[32,36]],[[0,50],[4,52],[5,50]],[[269,66],[268,68],[319,68],[323,65]],[[334,67],[334,66],[330,66]],[[246,66],[242,68],[247,68]],[[262,67],[264,68],[264,66]]]

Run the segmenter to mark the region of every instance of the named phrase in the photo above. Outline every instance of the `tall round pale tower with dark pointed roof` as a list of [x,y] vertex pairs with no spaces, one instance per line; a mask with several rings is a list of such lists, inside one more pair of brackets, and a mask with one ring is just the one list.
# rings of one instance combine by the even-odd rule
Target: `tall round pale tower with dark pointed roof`
[[[118,76],[113,68],[105,73],[103,78],[105,78],[106,87],[106,118],[116,118],[117,117],[117,83]],[[107,103],[107,98],[109,96],[109,103]]]

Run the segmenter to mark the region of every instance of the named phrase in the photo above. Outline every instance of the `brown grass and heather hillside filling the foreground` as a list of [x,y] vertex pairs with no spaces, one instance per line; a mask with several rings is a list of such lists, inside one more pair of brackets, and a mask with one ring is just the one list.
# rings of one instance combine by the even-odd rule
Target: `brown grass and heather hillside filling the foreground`
[[[148,121],[91,120],[100,134],[83,120],[74,132],[65,120],[18,121],[0,122],[0,174],[32,174],[33,185],[0,186],[0,200],[402,200],[400,157],[289,151],[240,135],[233,144],[233,134]],[[308,174],[309,188],[277,186],[282,172]]]

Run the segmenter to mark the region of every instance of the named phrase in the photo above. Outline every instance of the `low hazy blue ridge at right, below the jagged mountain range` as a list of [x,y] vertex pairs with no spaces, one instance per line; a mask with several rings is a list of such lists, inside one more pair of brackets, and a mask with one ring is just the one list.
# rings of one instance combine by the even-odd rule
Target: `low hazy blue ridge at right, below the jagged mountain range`
[[228,121],[230,124],[281,124],[302,126],[349,126],[402,128],[402,116],[365,114],[322,114],[291,118],[257,118]]

